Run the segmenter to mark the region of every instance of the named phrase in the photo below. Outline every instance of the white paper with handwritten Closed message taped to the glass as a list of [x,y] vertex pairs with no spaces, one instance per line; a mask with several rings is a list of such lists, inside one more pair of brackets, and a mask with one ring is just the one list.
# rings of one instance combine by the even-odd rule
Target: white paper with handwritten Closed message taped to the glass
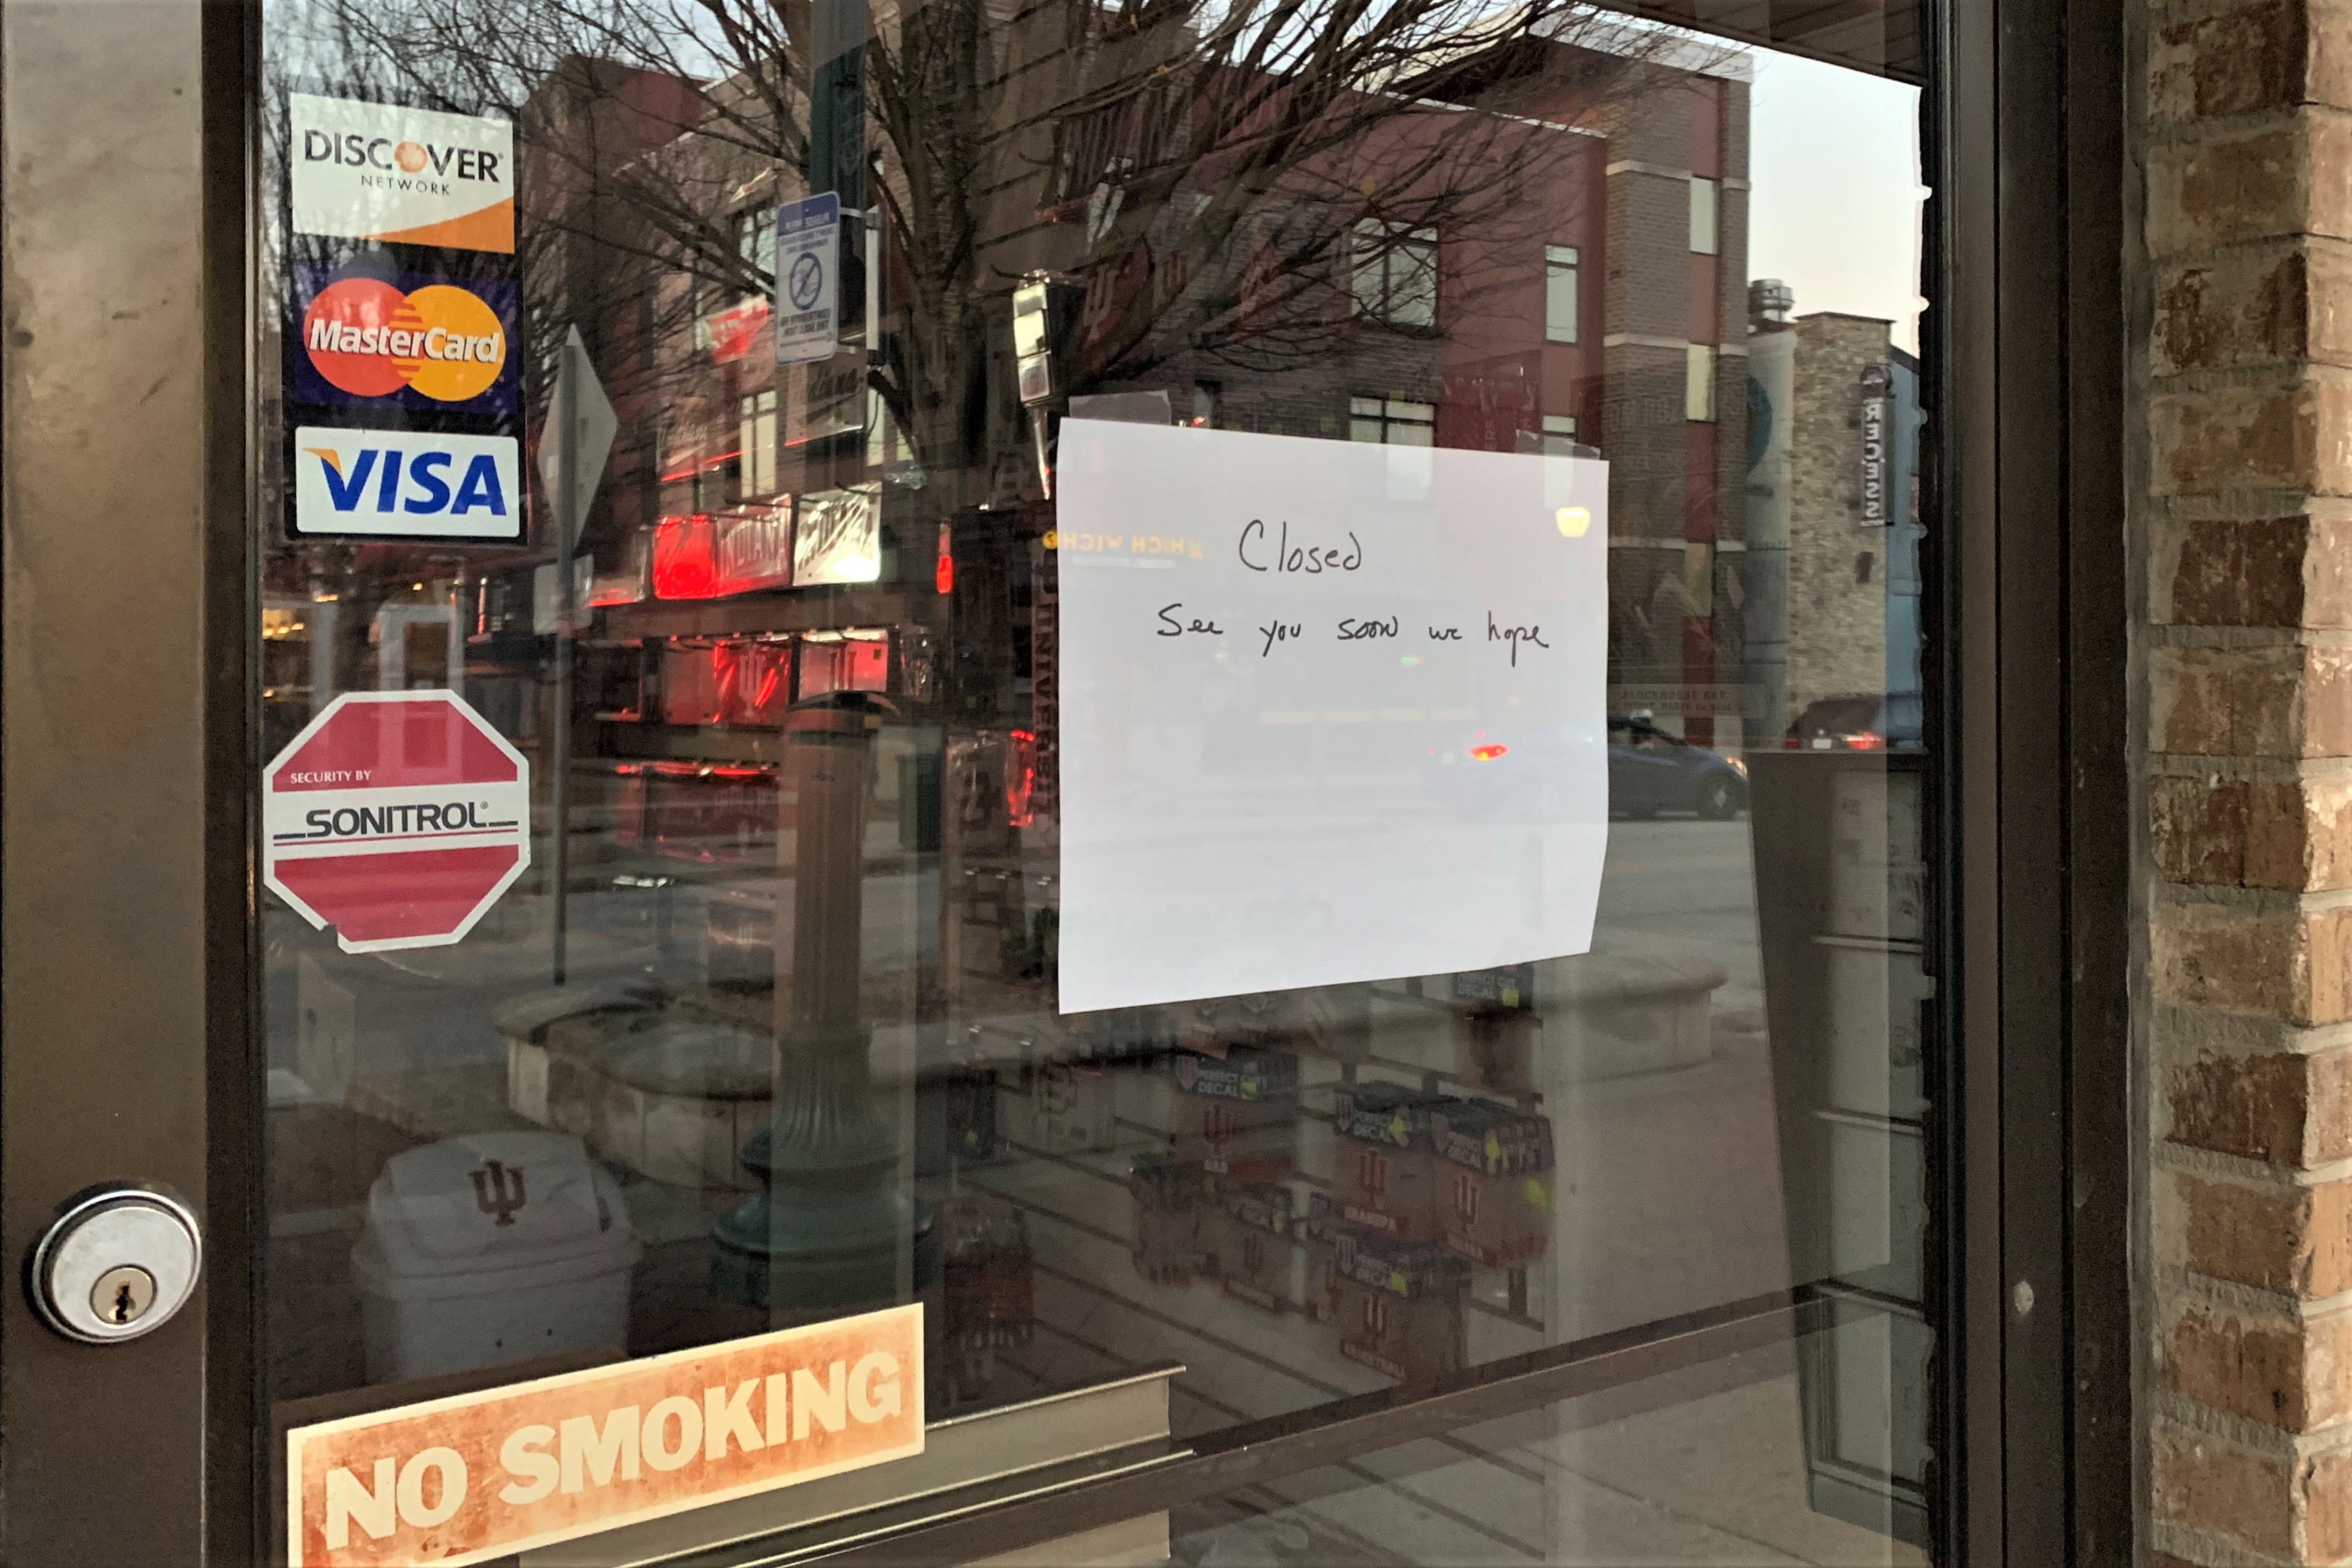
[[1585,952],[1609,465],[1061,425],[1061,1011]]

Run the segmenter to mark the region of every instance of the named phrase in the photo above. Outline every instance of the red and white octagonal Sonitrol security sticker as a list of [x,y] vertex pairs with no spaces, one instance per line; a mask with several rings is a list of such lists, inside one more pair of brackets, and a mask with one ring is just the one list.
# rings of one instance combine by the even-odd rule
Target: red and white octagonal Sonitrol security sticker
[[343,952],[442,947],[532,863],[532,766],[454,691],[346,691],[261,776],[261,875]]

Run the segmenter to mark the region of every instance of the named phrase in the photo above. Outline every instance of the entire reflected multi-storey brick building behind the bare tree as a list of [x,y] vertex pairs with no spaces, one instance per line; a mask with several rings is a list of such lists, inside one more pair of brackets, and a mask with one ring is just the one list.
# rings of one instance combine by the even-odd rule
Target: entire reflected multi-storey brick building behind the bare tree
[[[957,350],[931,320],[936,289],[924,289],[938,280],[917,277],[929,235],[894,230],[884,242],[877,376],[910,374],[908,343],[978,367],[978,388],[964,390],[967,371],[934,364],[941,397],[967,400],[934,409],[964,423],[931,414],[922,428],[917,383],[913,435],[884,411],[887,397],[863,395],[858,320],[844,322],[835,364],[774,367],[757,242],[802,183],[750,155],[741,143],[757,136],[741,125],[731,136],[647,134],[656,122],[689,132],[696,113],[743,113],[755,94],[734,80],[687,89],[637,73],[607,85],[588,66],[574,87],[586,103],[543,94],[539,115],[612,122],[597,139],[612,167],[539,183],[550,209],[567,209],[562,223],[541,223],[567,240],[534,259],[534,294],[583,324],[623,418],[586,538],[600,581],[626,595],[621,578],[642,576],[663,517],[889,480],[877,491],[884,578],[856,625],[953,614],[955,625],[931,628],[941,646],[988,658],[950,658],[957,675],[941,698],[971,722],[1033,722],[1033,658],[1007,651],[1030,651],[1030,541],[1051,527],[1051,508],[1000,334],[1007,280],[1047,270],[1068,277],[1077,301],[1058,346],[1063,393],[1164,393],[1171,418],[1237,430],[1609,458],[1613,701],[1717,738],[1740,665],[1731,567],[1745,522],[1733,503],[1745,477],[1743,59],[1573,24],[1472,73],[1416,82],[1411,96],[1343,96],[1341,134],[1263,176],[1228,179],[1218,160],[1237,153],[1183,162],[1181,136],[1204,113],[1197,101],[1230,92],[1230,80],[1192,78],[1190,101],[1105,92],[1181,66],[1183,35],[1073,52],[1065,26],[1054,7],[1004,24],[1002,96],[985,99],[983,118],[1021,129],[1004,136],[962,263],[983,275],[985,331]],[[1110,108],[1075,108],[1105,96]],[[1230,146],[1247,148],[1247,134],[1232,132]],[[896,188],[898,150],[887,139],[877,150],[880,179]],[[1378,188],[1395,169],[1411,174]],[[1202,249],[1174,233],[1230,188],[1251,197],[1225,240]],[[696,223],[731,237],[724,254],[680,242],[696,228],[687,209],[708,209]],[[1124,346],[1122,317],[1143,322]],[[851,395],[835,400],[847,425],[818,428],[809,388],[828,374],[847,376]],[[894,482],[901,475],[910,482]],[[934,538],[948,538],[957,562],[953,609],[894,592],[917,578],[929,590]],[[600,599],[619,609],[602,588]],[[687,625],[649,609],[607,621]],[[833,604],[823,623],[851,625],[847,614]],[[691,628],[750,635],[786,621],[795,632],[816,625],[746,607],[694,616]]]

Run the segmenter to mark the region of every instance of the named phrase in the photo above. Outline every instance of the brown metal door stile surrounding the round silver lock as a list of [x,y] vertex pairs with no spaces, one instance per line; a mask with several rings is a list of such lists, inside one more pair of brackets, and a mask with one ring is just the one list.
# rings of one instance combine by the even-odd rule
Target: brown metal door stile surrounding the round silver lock
[[198,1298],[75,1345],[0,1305],[0,1556],[249,1561],[247,12],[0,9],[0,1248],[151,1180]]

